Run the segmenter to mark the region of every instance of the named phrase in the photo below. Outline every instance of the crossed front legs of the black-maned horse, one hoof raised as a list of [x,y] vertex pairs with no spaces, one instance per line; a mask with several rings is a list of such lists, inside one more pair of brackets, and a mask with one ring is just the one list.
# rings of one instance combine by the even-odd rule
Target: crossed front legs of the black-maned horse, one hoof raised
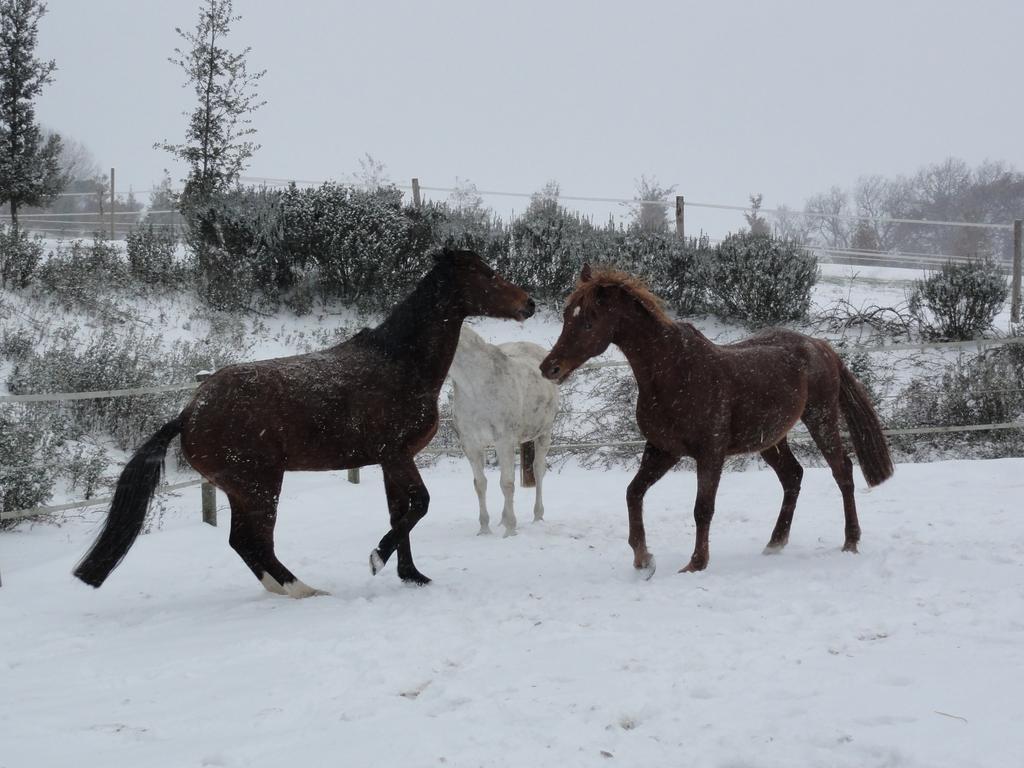
[[430,580],[413,563],[413,549],[409,535],[430,505],[430,494],[420,477],[412,457],[395,462],[382,463],[384,490],[387,494],[391,529],[381,539],[377,549],[370,553],[370,569],[379,573],[391,555],[398,553],[398,578],[403,582],[426,585]]

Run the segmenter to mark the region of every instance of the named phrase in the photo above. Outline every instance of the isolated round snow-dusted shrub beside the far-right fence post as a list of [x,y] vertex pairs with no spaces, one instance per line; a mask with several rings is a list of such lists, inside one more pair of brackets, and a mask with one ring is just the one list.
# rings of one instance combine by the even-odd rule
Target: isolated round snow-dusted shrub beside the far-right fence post
[[908,304],[929,336],[968,340],[991,328],[1008,293],[1007,279],[994,259],[947,261],[914,283]]

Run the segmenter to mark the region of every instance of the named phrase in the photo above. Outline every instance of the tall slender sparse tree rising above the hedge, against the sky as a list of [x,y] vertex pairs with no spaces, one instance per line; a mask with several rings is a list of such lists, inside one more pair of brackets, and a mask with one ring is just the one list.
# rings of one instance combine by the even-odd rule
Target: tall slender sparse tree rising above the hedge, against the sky
[[184,179],[182,209],[195,209],[212,195],[234,183],[259,148],[247,137],[256,133],[251,115],[265,101],[258,100],[256,86],[265,70],[250,73],[246,56],[251,48],[231,53],[224,47],[231,25],[242,16],[231,14],[231,0],[205,0],[196,29],[175,32],[186,43],[174,49],[168,60],[185,73],[197,104],[189,113],[185,141],[158,142],[188,165]]

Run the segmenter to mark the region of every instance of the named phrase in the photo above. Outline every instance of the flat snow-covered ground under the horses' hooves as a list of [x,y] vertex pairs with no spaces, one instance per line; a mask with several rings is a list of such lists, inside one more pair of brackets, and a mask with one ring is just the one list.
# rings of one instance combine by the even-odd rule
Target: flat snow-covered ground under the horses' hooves
[[0,766],[1021,765],[1024,459],[858,487],[860,555],[840,552],[826,471],[770,557],[777,481],[729,473],[693,575],[675,571],[695,482],[675,472],[648,495],[650,582],[626,545],[630,474],[548,477],[548,520],[517,490],[503,540],[475,536],[465,462],[427,470],[425,589],[369,573],[376,469],[286,478],[279,554],[329,597],[265,593],[196,488],[98,591],[70,571],[99,511],[5,534]]

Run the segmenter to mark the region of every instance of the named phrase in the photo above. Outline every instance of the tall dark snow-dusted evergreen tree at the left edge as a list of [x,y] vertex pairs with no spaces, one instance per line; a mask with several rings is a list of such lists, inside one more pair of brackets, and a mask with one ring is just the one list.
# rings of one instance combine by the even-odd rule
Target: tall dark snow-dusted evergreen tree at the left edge
[[34,101],[52,82],[56,63],[35,56],[40,0],[0,0],[0,205],[17,209],[50,203],[67,181],[60,170],[60,137],[43,137]]

